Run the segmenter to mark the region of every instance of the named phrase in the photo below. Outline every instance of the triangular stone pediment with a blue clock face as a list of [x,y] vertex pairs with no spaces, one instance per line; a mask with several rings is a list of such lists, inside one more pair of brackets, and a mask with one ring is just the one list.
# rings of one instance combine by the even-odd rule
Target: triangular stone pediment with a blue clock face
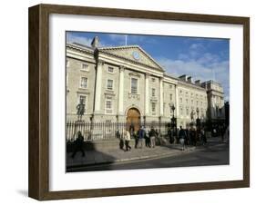
[[104,47],[99,48],[99,52],[110,54],[119,58],[132,61],[133,63],[140,63],[159,71],[164,71],[163,68],[157,63],[149,54],[147,54],[138,45],[127,45],[117,47]]

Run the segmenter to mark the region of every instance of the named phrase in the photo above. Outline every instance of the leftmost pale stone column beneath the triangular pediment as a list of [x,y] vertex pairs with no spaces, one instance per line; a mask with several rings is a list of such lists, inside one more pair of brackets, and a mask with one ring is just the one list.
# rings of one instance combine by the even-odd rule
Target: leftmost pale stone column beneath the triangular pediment
[[103,69],[103,61],[97,62],[97,75],[96,75],[96,86],[95,86],[95,102],[94,102],[94,112],[100,112],[100,104],[101,104],[101,86],[102,86],[102,69]]

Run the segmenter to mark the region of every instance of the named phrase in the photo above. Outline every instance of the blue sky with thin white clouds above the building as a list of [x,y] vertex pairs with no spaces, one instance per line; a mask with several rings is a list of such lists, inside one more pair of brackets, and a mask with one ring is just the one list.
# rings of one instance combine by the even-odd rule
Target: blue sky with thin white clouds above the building
[[230,96],[230,41],[228,39],[67,32],[68,43],[90,45],[94,36],[100,46],[138,44],[153,57],[167,73],[174,76],[191,75],[201,82],[215,80],[222,84],[225,100]]

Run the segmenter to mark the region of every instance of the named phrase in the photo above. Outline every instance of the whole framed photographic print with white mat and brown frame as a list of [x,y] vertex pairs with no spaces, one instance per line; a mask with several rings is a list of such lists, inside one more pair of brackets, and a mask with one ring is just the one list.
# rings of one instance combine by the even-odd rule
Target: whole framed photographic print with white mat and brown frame
[[29,196],[250,185],[250,20],[29,8]]

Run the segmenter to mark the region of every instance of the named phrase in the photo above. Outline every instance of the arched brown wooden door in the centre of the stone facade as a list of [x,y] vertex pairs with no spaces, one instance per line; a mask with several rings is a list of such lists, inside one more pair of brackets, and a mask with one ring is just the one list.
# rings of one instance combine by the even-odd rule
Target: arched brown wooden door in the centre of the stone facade
[[129,130],[133,129],[135,132],[138,131],[140,126],[140,112],[137,108],[128,109],[127,124]]

